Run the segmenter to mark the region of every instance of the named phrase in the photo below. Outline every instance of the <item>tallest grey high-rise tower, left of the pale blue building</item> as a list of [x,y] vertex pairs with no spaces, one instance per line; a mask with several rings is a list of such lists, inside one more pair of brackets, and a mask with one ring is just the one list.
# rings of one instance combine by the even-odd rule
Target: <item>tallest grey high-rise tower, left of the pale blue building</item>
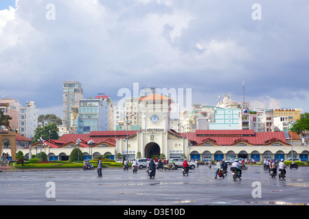
[[72,107],[78,106],[83,99],[82,84],[78,81],[68,80],[63,82],[63,116],[62,123],[67,130],[71,127]]

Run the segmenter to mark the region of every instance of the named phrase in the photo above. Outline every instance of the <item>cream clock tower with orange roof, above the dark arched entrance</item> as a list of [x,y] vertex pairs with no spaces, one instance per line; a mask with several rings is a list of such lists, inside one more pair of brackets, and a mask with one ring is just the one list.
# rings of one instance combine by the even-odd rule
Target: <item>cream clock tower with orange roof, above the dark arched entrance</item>
[[139,99],[141,131],[159,132],[170,130],[170,104],[168,96],[153,94]]

